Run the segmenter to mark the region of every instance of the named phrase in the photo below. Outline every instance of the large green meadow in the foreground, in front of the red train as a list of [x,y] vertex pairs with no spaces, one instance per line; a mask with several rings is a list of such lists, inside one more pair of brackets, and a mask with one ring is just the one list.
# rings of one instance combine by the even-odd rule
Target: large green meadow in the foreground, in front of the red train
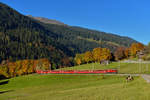
[[149,100],[150,84],[141,77],[27,75],[1,80],[0,100]]

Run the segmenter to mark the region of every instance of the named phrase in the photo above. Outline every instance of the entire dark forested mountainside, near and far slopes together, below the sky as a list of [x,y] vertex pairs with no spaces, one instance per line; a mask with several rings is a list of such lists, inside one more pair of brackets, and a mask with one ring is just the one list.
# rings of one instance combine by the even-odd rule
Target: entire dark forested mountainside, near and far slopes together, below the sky
[[45,24],[0,3],[0,62],[48,58],[55,66],[61,66],[76,53],[96,47],[114,51],[133,42],[136,41],[105,32]]

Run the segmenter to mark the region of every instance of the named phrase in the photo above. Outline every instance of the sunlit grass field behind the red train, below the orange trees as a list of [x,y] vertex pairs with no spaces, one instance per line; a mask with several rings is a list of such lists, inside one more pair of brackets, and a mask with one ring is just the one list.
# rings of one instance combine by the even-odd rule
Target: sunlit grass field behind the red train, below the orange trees
[[59,70],[98,70],[98,69],[118,69],[119,73],[143,73],[150,74],[150,64],[139,63],[117,63],[100,65],[99,63],[83,64],[80,66],[61,68]]

